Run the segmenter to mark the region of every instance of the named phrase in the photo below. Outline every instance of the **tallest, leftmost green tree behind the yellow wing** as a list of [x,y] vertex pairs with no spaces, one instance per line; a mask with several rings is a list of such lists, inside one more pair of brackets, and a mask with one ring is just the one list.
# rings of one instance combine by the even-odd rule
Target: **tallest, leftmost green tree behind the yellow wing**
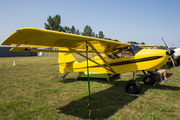
[[61,17],[60,15],[55,15],[53,18],[49,15],[47,18],[48,23],[44,23],[45,29],[48,30],[55,30],[55,31],[62,31],[61,27]]

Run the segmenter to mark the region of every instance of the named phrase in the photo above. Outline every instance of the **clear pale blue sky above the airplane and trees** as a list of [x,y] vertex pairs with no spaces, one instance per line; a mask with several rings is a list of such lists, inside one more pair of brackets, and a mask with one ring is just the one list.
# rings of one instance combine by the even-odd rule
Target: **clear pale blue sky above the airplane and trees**
[[61,16],[61,26],[120,42],[180,47],[180,0],[0,0],[0,43],[23,27],[44,29],[48,16]]

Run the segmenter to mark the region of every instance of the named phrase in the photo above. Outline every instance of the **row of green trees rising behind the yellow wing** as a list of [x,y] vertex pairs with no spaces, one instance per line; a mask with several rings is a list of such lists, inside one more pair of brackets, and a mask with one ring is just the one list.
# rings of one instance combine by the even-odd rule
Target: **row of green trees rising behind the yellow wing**
[[[84,35],[84,36],[89,36],[89,37],[95,37],[95,38],[100,38],[100,39],[107,39],[107,40],[113,40],[111,38],[105,37],[103,31],[99,31],[98,34],[93,32],[92,28],[88,25],[85,26],[84,31],[80,32],[79,29],[76,29],[73,25],[70,27],[68,26],[61,26],[61,16],[60,15],[55,15],[54,17],[49,17],[47,18],[47,23],[44,23],[45,29],[48,30],[54,30],[54,31],[59,31],[59,32],[66,32],[66,33],[72,33],[72,34],[77,34],[77,35]],[[118,41],[117,39],[114,41]],[[127,43],[131,44],[138,44],[137,42],[133,41],[128,41]],[[142,42],[141,44],[145,44]]]

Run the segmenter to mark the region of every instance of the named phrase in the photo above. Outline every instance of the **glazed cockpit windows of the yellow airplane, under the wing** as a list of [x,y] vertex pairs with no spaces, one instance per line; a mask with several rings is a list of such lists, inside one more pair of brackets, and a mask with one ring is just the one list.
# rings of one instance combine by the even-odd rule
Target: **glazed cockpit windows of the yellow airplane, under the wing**
[[131,46],[118,48],[118,49],[114,50],[113,53],[108,54],[108,57],[110,59],[116,59],[116,58],[133,56],[142,49],[143,49],[143,47],[141,47],[137,44],[131,44]]

